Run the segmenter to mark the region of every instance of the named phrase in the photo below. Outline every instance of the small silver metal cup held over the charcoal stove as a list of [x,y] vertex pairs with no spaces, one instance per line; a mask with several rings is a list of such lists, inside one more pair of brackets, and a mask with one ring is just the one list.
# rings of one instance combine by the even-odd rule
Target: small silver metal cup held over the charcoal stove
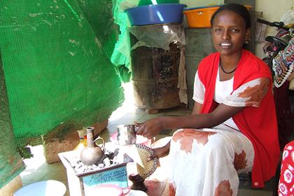
[[130,145],[135,144],[136,129],[134,125],[118,125],[118,144],[120,145]]

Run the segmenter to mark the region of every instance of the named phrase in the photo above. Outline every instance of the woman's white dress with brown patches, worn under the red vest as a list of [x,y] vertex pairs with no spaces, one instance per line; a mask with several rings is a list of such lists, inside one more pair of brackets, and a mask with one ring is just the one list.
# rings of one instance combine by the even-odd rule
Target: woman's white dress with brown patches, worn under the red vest
[[[262,80],[265,78],[251,80],[232,92],[233,78],[220,81],[218,76],[214,101],[228,106],[248,106],[246,101],[253,94],[239,95],[244,95],[248,87],[260,85]],[[203,103],[204,92],[196,73],[195,102]],[[259,104],[252,102],[250,106]],[[211,129],[177,130],[169,150],[169,193],[176,196],[237,195],[237,173],[251,171],[253,158],[251,141],[239,131],[232,118]]]

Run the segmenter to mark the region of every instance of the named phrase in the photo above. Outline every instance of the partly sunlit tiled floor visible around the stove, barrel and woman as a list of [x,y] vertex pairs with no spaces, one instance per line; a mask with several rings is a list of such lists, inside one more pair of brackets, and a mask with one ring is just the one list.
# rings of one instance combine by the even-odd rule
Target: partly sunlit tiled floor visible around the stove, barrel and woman
[[[126,101],[122,107],[114,111],[111,118],[109,119],[109,125],[106,130],[104,130],[100,136],[109,141],[111,134],[116,132],[116,126],[121,124],[132,124],[134,121],[143,122],[155,116],[180,116],[183,114],[188,114],[190,111],[183,107],[178,107],[175,109],[165,109],[161,110],[156,114],[148,114],[144,109],[137,109],[134,106],[134,100],[132,98],[132,87],[130,84],[125,85],[125,94],[129,94],[129,97],[125,97]],[[172,134],[171,130],[163,130],[156,139],[166,137]],[[31,148],[32,153],[34,153],[34,158],[25,160],[27,169],[21,173],[23,186],[28,185],[36,181],[45,181],[48,179],[53,179],[61,181],[66,185],[66,196],[69,195],[69,188],[67,186],[67,177],[64,166],[61,162],[48,165],[45,162],[43,156],[43,147],[34,146]],[[251,190],[250,183],[248,181],[240,181],[239,196],[272,196],[272,183],[267,185],[264,190]]]

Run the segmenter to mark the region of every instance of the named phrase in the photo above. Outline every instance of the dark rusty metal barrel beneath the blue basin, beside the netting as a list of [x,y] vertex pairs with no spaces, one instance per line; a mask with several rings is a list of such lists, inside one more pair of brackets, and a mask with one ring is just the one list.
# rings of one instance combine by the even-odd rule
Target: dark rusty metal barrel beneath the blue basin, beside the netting
[[[130,34],[130,41],[137,38]],[[134,104],[141,109],[168,109],[179,106],[179,63],[176,43],[169,50],[140,46],[131,51]]]

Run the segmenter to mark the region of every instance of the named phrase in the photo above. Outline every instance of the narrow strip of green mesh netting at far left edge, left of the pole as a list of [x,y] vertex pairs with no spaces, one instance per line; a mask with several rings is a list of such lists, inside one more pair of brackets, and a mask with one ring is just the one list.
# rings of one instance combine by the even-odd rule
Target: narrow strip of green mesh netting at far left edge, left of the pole
[[0,55],[0,189],[25,168],[13,140],[8,97]]

